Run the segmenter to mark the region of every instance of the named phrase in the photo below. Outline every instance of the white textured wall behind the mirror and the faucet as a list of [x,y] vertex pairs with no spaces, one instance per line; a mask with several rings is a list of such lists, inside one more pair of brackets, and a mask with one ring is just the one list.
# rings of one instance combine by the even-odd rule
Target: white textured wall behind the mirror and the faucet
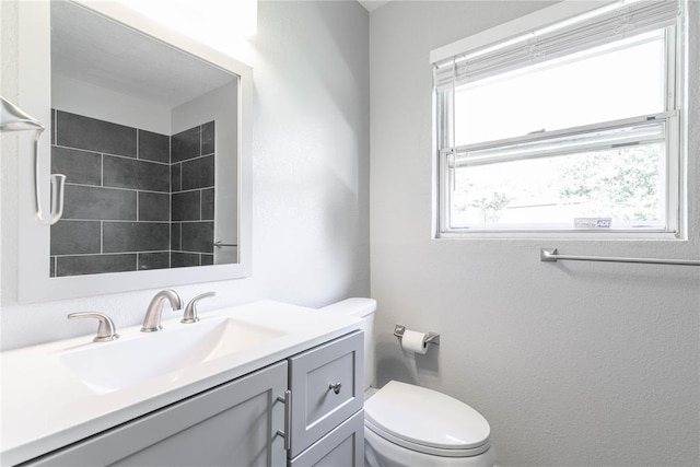
[[[1,8],[1,93],[12,101],[16,4]],[[357,2],[260,2],[246,57],[255,80],[253,276],[177,288],[186,300],[217,291],[205,313],[262,297],[322,306],[370,293],[368,42],[368,12]],[[94,332],[68,322],[70,312],[140,323],[153,290],[16,304],[18,147],[15,136],[1,138],[2,349]]]

